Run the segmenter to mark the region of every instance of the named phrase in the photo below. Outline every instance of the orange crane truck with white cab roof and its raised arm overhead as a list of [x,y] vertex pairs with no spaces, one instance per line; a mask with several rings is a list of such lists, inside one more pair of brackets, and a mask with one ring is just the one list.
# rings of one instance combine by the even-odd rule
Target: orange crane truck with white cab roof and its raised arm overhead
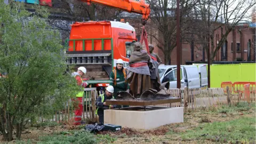
[[[140,2],[133,0],[83,2],[142,14],[143,28],[150,13],[149,5],[144,0]],[[142,37],[142,39],[145,38]],[[67,39],[68,51],[65,53],[67,64],[75,65],[75,68],[84,66],[87,69],[84,80],[91,87],[102,89],[109,85],[109,75],[115,68],[117,59],[124,61],[124,67],[128,66],[134,41],[137,41],[135,30],[129,23],[119,21],[75,22],[71,25],[70,39]],[[87,80],[89,78],[90,80]]]

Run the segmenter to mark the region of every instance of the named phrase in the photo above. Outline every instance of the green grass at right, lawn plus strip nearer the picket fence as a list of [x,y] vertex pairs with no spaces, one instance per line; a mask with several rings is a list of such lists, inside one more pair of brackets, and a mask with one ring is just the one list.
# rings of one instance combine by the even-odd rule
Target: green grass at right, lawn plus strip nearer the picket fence
[[[195,115],[199,117],[199,126],[182,132],[175,132],[170,130],[167,134],[178,135],[182,140],[211,140],[221,143],[249,143],[255,140],[255,116],[245,117],[239,116],[237,119],[228,121],[228,118],[234,115],[243,115],[254,113],[255,104],[247,102],[239,102],[235,106],[222,106],[220,108],[202,111],[202,113]],[[207,115],[218,115],[226,118],[225,122],[215,121],[211,123],[211,117]]]

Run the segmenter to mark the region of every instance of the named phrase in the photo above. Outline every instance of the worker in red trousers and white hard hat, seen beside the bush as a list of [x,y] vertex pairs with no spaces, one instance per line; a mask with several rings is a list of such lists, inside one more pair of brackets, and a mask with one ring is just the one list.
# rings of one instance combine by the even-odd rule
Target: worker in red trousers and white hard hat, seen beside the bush
[[75,109],[75,125],[80,125],[82,120],[82,113],[83,113],[83,96],[84,96],[84,88],[88,85],[88,83],[83,82],[83,75],[86,74],[85,67],[79,67],[77,72],[72,73],[71,75],[76,78],[77,85],[82,87],[81,92],[76,94],[76,100],[78,101],[78,107]]

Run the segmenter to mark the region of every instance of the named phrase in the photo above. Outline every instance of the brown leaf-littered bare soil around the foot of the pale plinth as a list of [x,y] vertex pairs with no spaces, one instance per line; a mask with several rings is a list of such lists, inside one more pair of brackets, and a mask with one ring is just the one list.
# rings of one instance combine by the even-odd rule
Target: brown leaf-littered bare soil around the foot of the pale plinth
[[[169,124],[158,127],[154,130],[134,130],[129,128],[122,128],[118,132],[100,132],[98,134],[109,134],[115,138],[113,143],[215,143],[209,140],[182,140],[177,134],[171,132],[186,132],[186,130],[193,129],[202,123],[225,122],[241,117],[255,117],[255,111],[249,110],[246,113],[235,112],[230,114],[217,113],[209,111],[191,111],[185,113],[184,123]],[[134,121],[135,122],[135,121]],[[51,135],[69,130],[81,130],[83,126],[73,126],[69,123],[61,124],[52,127],[27,127],[22,134],[22,140],[30,139],[32,143],[36,143],[39,137],[43,135]],[[0,142],[3,143],[3,137],[0,135]],[[15,143],[13,140],[10,143]]]

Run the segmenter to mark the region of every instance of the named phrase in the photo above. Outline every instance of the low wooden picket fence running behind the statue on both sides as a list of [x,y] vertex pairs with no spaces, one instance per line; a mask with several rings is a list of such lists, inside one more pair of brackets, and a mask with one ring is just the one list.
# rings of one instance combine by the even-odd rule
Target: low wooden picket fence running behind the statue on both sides
[[[250,88],[250,89],[249,89]],[[210,109],[215,106],[223,105],[234,105],[237,102],[247,101],[255,102],[256,89],[255,87],[244,87],[240,91],[232,91],[227,86],[226,89],[223,88],[199,88],[199,89],[170,89],[169,93],[173,97],[182,98],[182,102],[166,103],[163,105],[165,107],[184,107],[187,110],[196,109]],[[85,94],[83,97],[83,114],[82,121],[86,119],[98,119],[95,115],[96,107],[95,101],[98,98],[98,92],[96,88],[86,88],[84,89]],[[102,92],[99,92],[100,94]],[[66,104],[64,110],[57,111],[55,115],[52,116],[51,121],[63,122],[63,121],[74,121],[74,107],[72,101],[69,100]],[[43,118],[41,118],[42,121]],[[43,121],[42,121],[43,122]]]

